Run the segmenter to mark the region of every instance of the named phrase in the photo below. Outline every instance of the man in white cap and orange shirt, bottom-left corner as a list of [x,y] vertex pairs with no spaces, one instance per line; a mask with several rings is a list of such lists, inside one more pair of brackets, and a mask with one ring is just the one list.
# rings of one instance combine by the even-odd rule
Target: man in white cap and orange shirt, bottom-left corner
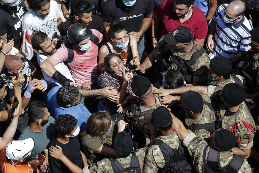
[[[11,141],[0,151],[1,173],[37,172],[31,163],[31,150],[34,147],[32,138],[23,141]],[[46,172],[46,161],[40,165],[41,172]]]

